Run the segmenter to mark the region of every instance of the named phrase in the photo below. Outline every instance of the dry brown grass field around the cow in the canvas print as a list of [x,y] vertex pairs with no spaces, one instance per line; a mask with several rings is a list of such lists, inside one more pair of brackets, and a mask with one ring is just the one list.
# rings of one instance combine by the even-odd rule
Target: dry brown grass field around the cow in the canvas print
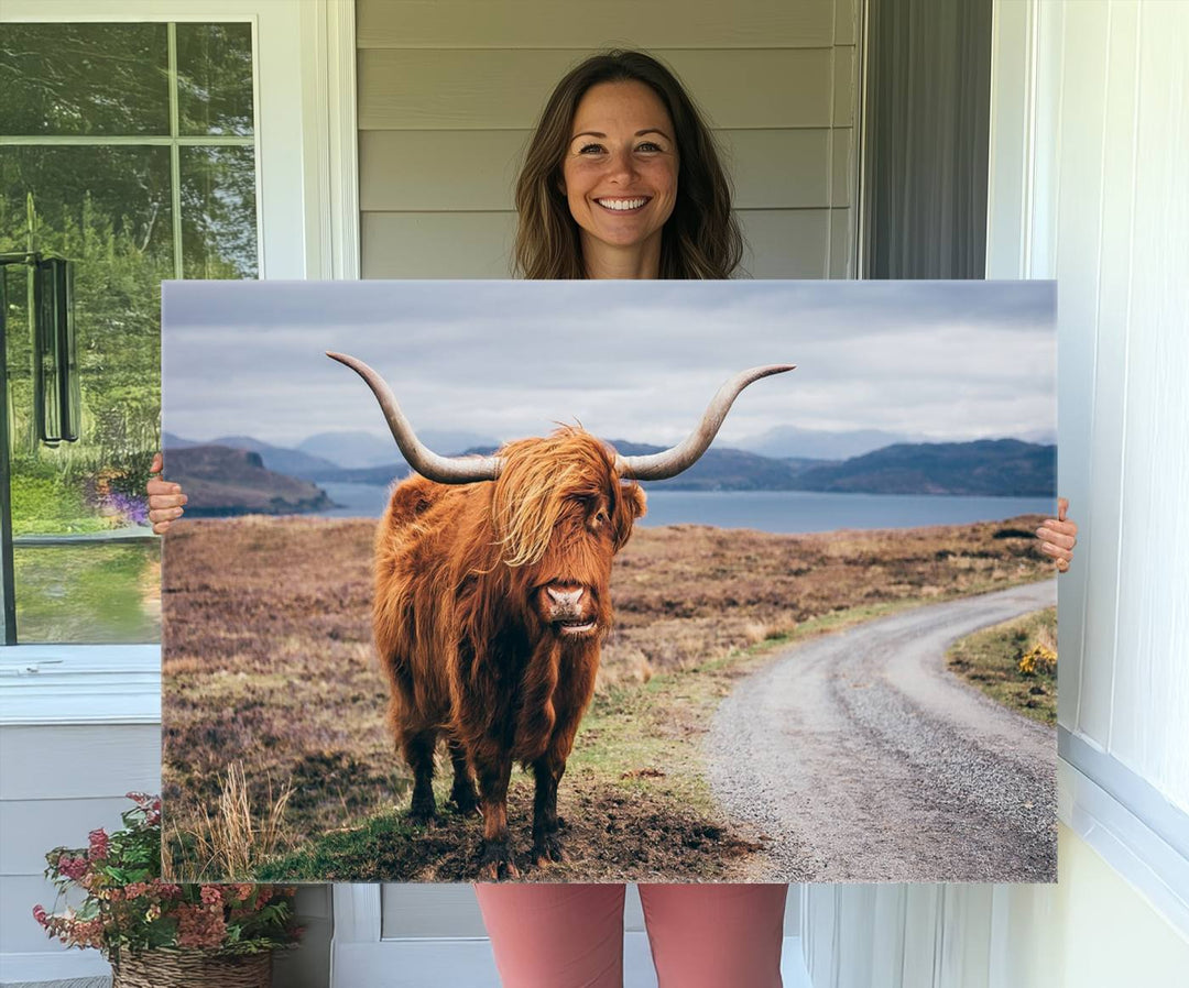
[[[888,610],[1051,575],[1039,516],[924,529],[770,535],[637,529],[616,560],[616,627],[559,793],[572,863],[548,875],[746,876],[765,835],[717,818],[700,736],[732,678],[793,637]],[[369,627],[375,522],[185,521],[163,567],[166,868],[226,876],[200,839],[233,764],[257,823],[291,791],[278,850],[247,870],[287,879],[458,881],[476,820],[402,818],[409,778],[384,728]],[[516,773],[514,841],[530,795]],[[205,812],[206,811],[206,812]]]

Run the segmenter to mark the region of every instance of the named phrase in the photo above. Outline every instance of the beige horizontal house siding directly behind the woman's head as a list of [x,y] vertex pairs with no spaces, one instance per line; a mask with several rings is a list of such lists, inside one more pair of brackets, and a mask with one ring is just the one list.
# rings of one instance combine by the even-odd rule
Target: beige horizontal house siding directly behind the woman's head
[[712,121],[747,271],[854,276],[857,33],[857,0],[359,0],[363,275],[508,277],[512,184],[546,96],[587,54],[630,46]]

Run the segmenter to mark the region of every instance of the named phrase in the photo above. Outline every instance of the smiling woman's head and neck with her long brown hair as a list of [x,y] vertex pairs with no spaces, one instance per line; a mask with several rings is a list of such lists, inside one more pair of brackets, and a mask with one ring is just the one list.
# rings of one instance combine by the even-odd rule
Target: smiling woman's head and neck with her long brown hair
[[638,51],[593,56],[558,83],[516,212],[526,278],[728,278],[743,256],[710,127]]

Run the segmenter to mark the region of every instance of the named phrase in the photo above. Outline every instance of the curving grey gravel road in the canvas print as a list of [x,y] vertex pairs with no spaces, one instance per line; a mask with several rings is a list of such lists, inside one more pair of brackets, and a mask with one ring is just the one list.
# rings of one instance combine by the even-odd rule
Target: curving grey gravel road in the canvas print
[[721,805],[770,838],[755,880],[1056,881],[1053,729],[943,657],[1056,593],[1048,580],[880,618],[742,680],[706,754]]

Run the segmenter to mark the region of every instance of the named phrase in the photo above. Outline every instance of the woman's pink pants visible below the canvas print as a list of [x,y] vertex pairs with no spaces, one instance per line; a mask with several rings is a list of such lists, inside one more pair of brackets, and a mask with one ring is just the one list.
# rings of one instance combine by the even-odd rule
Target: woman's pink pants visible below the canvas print
[[[504,988],[621,988],[622,885],[477,885]],[[785,885],[641,885],[660,988],[780,988]]]

